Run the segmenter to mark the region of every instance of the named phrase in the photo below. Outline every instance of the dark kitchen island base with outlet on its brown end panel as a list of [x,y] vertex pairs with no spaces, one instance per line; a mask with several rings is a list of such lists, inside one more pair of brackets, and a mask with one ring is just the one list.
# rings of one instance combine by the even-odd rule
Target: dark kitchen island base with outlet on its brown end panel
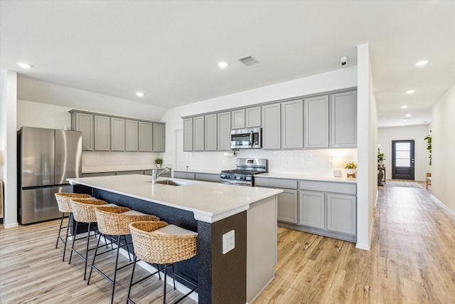
[[[198,303],[245,304],[248,300],[254,300],[273,279],[273,268],[276,263],[276,195],[257,201],[255,203],[257,207],[252,208],[257,211],[250,212],[253,216],[250,216],[250,210],[245,210],[210,223],[195,219],[193,211],[110,192],[106,189],[72,183],[71,190],[75,193],[91,194],[97,199],[103,199],[119,206],[127,206],[145,214],[154,214],[169,224],[196,231],[198,233],[198,255],[187,261],[176,263],[175,271],[183,278],[188,278],[189,281],[198,284]],[[188,197],[188,199],[192,198]],[[271,228],[270,225],[265,229],[259,227],[261,224],[258,225],[257,222],[262,221],[264,217],[262,213],[264,212],[271,213],[265,218],[270,219],[269,222],[275,219],[274,227]],[[272,238],[266,236],[271,241],[264,241],[263,237],[252,238],[250,236],[250,231],[255,231],[248,226],[250,217],[252,219],[251,224],[254,224],[255,228],[272,234]],[[250,231],[247,231],[247,227]],[[223,254],[223,234],[232,230],[235,231],[235,248]],[[248,238],[249,236],[250,238]],[[249,239],[256,240],[252,240],[250,245]],[[248,268],[247,260],[249,261],[251,258],[262,260],[262,258],[257,257],[257,251],[260,253],[260,251],[264,251],[264,248],[257,246],[257,242],[267,243],[267,246],[273,248],[270,249],[269,254],[265,255],[269,256],[269,263],[262,265],[261,261],[259,265],[264,266],[265,271],[253,273],[252,270],[249,275],[247,272],[251,266]],[[257,248],[252,248],[250,252],[247,252],[247,246]],[[257,266],[256,263],[253,267],[257,268]],[[179,281],[178,278],[176,280],[190,287],[188,283]]]

